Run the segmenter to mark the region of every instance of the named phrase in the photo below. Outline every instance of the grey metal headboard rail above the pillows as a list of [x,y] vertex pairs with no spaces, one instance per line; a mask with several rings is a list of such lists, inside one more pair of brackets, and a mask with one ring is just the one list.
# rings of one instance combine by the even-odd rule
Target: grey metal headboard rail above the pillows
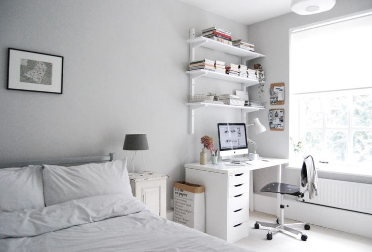
[[63,159],[45,159],[45,160],[29,160],[16,162],[0,162],[0,168],[7,167],[23,167],[28,165],[64,165],[73,166],[88,163],[102,163],[115,160],[115,153],[110,153],[107,156],[95,157],[80,157],[80,158],[63,158]]

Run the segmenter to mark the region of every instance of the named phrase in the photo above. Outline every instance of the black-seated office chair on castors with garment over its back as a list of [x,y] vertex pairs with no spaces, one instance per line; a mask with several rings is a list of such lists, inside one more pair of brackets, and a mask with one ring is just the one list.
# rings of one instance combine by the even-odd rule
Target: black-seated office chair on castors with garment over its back
[[279,206],[280,212],[279,212],[279,218],[276,220],[276,223],[268,223],[268,222],[261,222],[261,221],[256,221],[255,223],[255,229],[259,229],[260,225],[264,227],[273,228],[267,232],[266,238],[268,240],[271,240],[272,234],[278,231],[279,232],[288,231],[296,235],[301,234],[301,240],[303,241],[307,240],[306,234],[296,229],[293,229],[293,227],[304,226],[305,230],[309,230],[310,229],[309,224],[307,224],[306,222],[284,224],[284,194],[304,197],[305,193],[309,191],[310,186],[312,187],[310,189],[311,191],[309,191],[310,198],[314,196],[315,194],[317,194],[317,173],[316,173],[315,166],[314,166],[314,160],[311,156],[307,156],[304,159],[302,169],[301,169],[301,185],[302,187],[306,187],[304,192],[301,192],[300,187],[297,185],[290,185],[290,184],[277,183],[277,182],[269,183],[265,185],[264,187],[262,187],[262,189],[260,190],[261,192],[280,193],[280,206]]

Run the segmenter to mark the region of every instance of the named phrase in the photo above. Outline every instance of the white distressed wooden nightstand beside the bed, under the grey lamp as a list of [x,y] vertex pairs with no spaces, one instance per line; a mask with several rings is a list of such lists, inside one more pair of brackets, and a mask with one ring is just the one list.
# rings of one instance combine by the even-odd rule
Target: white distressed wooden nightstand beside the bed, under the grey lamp
[[167,178],[168,175],[150,171],[129,174],[133,196],[163,218],[167,217]]

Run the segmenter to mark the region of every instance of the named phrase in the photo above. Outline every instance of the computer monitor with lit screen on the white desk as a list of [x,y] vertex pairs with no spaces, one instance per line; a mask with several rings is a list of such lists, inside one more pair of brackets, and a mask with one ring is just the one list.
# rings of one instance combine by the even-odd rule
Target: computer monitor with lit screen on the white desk
[[217,127],[221,157],[248,153],[245,123],[219,123]]

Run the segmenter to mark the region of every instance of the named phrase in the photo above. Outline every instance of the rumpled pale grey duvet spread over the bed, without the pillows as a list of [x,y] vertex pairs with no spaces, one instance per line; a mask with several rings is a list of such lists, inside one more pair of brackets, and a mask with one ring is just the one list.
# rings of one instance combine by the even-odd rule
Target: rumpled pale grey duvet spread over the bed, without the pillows
[[245,251],[110,194],[0,214],[0,251]]

